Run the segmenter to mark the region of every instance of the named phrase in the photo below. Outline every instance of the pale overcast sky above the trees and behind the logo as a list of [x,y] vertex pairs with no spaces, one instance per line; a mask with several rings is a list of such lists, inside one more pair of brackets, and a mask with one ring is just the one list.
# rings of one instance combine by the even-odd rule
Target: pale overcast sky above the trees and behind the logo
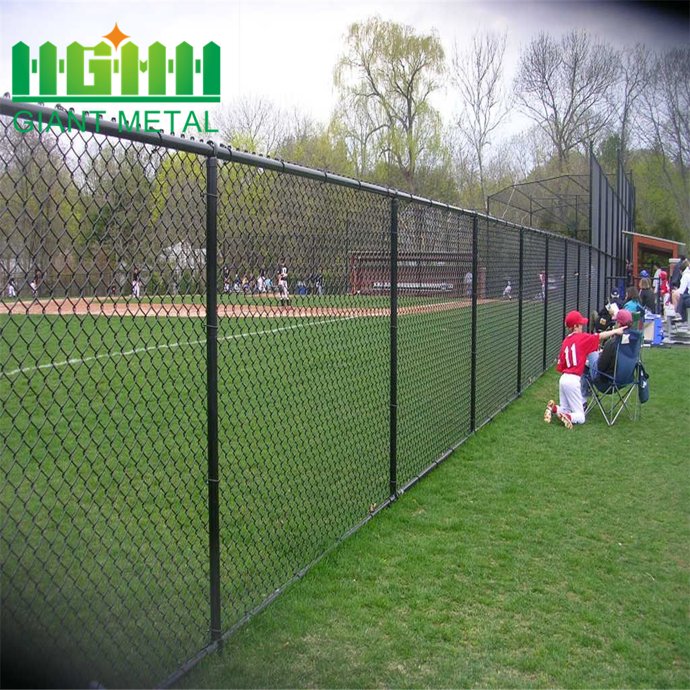
[[[572,28],[585,28],[617,48],[635,42],[655,49],[687,45],[688,7],[687,2],[613,1],[0,0],[0,92],[12,90],[11,50],[17,41],[28,43],[32,58],[38,57],[38,48],[45,41],[55,43],[58,57],[64,57],[69,43],[77,40],[84,46],[93,46],[117,21],[119,28],[137,43],[142,58],[154,41],[164,43],[168,55],[178,43],[187,41],[194,47],[195,57],[208,41],[218,43],[224,102],[239,95],[260,95],[282,108],[297,107],[326,123],[335,103],[333,67],[344,49],[344,34],[350,23],[373,14],[413,26],[419,33],[435,30],[448,58],[454,41],[462,46],[477,30],[507,29],[505,69],[506,79],[510,79],[520,46],[540,30],[560,36]],[[113,57],[119,57],[120,50]],[[36,80],[35,86],[32,82],[32,93],[38,93],[37,75],[32,75],[32,79]],[[113,79],[113,93],[119,93],[119,75],[113,75]],[[61,88],[64,83],[59,81],[58,90],[64,93]],[[452,114],[451,91],[437,95],[435,103],[444,118]],[[76,107],[81,110],[88,106]],[[107,107],[108,115],[117,115],[120,108],[164,110],[171,106],[113,103],[100,107]],[[204,108],[213,106],[195,110]]]

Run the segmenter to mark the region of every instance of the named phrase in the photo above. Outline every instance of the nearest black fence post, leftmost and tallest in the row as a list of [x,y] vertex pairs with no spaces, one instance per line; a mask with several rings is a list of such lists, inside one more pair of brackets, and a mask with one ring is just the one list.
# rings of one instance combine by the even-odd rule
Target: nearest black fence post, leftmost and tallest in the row
[[211,641],[220,639],[220,519],[218,503],[218,159],[206,160],[206,382],[208,388],[208,561]]

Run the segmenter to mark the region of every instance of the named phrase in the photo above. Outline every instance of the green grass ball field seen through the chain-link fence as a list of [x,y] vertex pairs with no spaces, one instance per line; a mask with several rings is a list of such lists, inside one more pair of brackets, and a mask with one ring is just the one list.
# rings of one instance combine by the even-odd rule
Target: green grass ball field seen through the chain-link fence
[[[524,311],[526,384],[543,305]],[[159,682],[208,642],[204,322],[0,319],[3,644],[72,683]],[[220,320],[224,629],[388,497],[389,326]],[[515,395],[516,328],[517,303],[480,306],[477,424]],[[470,336],[467,307],[399,319],[399,486],[469,435]]]

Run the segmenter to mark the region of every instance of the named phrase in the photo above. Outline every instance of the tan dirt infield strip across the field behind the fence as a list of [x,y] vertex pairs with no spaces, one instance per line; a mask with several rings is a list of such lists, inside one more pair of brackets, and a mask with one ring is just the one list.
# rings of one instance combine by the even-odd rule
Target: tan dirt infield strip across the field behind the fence
[[[479,304],[493,302],[480,299]],[[432,302],[399,306],[398,315],[424,314],[471,306],[469,299],[453,299],[449,302]],[[355,306],[280,306],[279,304],[220,304],[218,316],[235,318],[314,318],[314,317],[368,317],[389,316],[390,308]],[[113,302],[111,299],[37,299],[34,302],[0,302],[0,314],[51,315],[51,316],[108,316],[108,317],[193,317],[206,316],[203,304],[173,304],[164,302]]]

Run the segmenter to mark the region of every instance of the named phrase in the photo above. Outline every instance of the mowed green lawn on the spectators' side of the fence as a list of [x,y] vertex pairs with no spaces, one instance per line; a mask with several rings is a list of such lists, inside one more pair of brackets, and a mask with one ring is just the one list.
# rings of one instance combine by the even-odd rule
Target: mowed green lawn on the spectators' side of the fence
[[550,371],[180,687],[690,687],[690,350],[638,422]]

